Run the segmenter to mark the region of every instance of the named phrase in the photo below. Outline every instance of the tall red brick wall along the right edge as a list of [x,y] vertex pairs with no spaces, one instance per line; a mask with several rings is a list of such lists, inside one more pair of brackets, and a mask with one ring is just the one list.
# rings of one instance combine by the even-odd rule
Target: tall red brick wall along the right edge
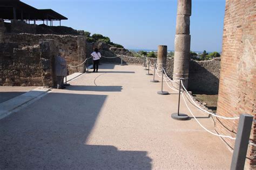
[[[256,0],[226,0],[217,114],[256,118]],[[219,120],[219,121],[218,121]],[[235,137],[237,121],[218,119],[216,131]],[[251,139],[256,141],[256,123]],[[234,140],[224,139],[230,147]],[[255,153],[254,153],[255,152]],[[246,166],[256,165],[256,147],[248,147]]]

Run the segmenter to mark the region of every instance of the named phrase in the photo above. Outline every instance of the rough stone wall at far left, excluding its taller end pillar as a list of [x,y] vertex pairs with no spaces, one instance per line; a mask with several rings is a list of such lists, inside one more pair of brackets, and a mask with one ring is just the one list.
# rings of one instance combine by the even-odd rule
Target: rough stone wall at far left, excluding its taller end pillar
[[0,42],[0,86],[42,86],[39,45]]

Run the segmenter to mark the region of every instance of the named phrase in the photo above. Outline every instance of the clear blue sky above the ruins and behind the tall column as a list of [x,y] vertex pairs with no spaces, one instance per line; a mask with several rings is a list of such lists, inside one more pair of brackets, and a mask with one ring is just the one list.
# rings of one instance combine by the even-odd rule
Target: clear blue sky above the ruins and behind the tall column
[[[68,17],[62,25],[100,33],[125,48],[174,49],[177,0],[21,0]],[[192,0],[191,50],[221,51],[225,0]],[[58,25],[59,23],[53,23]]]

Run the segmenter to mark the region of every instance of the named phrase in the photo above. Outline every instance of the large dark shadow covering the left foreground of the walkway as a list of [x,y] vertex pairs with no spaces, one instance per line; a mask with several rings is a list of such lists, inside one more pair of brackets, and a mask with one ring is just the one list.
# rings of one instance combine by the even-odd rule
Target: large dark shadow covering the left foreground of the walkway
[[106,98],[50,93],[1,119],[0,169],[151,169],[145,151],[86,145]]

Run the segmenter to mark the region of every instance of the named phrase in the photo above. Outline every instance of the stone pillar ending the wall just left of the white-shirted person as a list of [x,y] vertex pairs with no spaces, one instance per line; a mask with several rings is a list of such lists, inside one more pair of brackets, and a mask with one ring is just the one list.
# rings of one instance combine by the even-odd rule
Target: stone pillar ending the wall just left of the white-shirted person
[[[86,37],[85,36],[77,36],[77,65],[84,62],[86,53]],[[83,65],[77,67],[78,72],[83,73],[85,70],[85,63]]]

